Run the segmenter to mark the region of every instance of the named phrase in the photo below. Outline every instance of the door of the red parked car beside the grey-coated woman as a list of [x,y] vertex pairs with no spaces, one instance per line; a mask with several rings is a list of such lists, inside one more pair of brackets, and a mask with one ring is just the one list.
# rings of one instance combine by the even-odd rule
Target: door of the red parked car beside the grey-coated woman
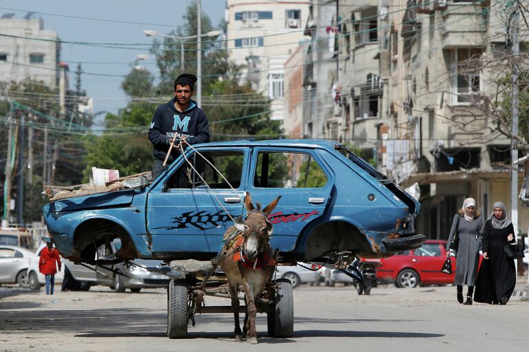
[[439,243],[425,243],[413,251],[413,266],[424,283],[444,278],[446,274],[441,272],[441,268],[445,260]]

